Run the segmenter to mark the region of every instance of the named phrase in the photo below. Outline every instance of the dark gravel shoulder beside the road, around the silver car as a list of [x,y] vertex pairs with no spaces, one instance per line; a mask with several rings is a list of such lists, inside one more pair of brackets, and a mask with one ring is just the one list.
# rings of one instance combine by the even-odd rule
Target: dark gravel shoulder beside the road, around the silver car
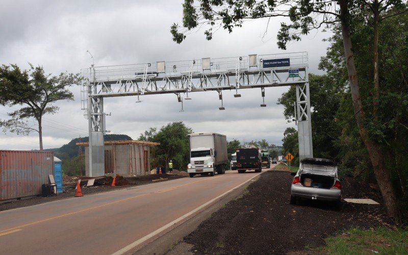
[[[323,245],[325,237],[344,228],[392,224],[380,212],[380,206],[344,202],[342,209],[335,211],[319,201],[300,200],[296,206],[290,205],[292,178],[285,171],[262,174],[248,187],[246,195],[227,203],[203,221],[184,238],[184,244],[169,253],[179,247],[189,247],[194,254],[299,252],[306,245]],[[346,178],[343,187],[343,198],[373,198],[374,195],[368,187],[350,178]]]

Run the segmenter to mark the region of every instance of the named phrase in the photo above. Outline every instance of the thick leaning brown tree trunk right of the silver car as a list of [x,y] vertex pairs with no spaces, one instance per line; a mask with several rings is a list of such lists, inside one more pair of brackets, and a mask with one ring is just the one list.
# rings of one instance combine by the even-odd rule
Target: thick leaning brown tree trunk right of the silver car
[[341,0],[340,2],[341,12],[341,27],[344,45],[344,54],[347,64],[348,79],[350,83],[351,98],[353,101],[354,116],[357,122],[360,136],[367,147],[368,154],[370,156],[371,164],[373,166],[375,179],[381,191],[382,198],[384,199],[385,206],[387,208],[387,214],[390,217],[398,216],[397,199],[391,184],[390,176],[386,171],[384,165],[384,156],[378,144],[375,144],[370,140],[367,134],[367,130],[364,127],[365,113],[363,104],[361,102],[360,87],[357,78],[357,71],[355,69],[354,55],[350,38],[350,27],[348,23],[348,10],[347,1]]

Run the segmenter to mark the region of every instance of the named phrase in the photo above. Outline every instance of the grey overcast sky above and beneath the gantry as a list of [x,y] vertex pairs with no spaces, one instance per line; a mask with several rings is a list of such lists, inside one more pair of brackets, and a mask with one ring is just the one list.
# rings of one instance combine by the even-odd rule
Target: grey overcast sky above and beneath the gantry
[[[207,41],[204,30],[192,33],[176,44],[171,39],[170,25],[181,23],[182,2],[176,1],[0,1],[0,64],[15,63],[28,69],[28,62],[41,65],[46,73],[68,71],[78,73],[92,63],[95,66],[154,63],[200,58],[223,58],[249,54],[308,52],[309,70],[317,69],[326,53],[328,33],[313,32],[302,41],[291,43],[286,51],[276,46],[276,33],[281,20],[251,20],[232,34],[218,30]],[[266,32],[266,35],[264,35]],[[266,139],[282,144],[287,123],[277,98],[289,87],[266,88],[266,108],[261,108],[260,89],[224,91],[225,111],[219,111],[218,93],[191,93],[193,100],[184,101],[184,112],[174,94],[105,98],[106,129],[110,134],[126,134],[137,139],[149,127],[183,121],[194,132],[215,132],[227,140],[241,142]],[[88,136],[88,120],[81,110],[80,87],[73,86],[74,101],[59,101],[58,114],[45,115],[44,148],[61,147],[71,139]],[[17,107],[0,106],[0,119]],[[0,149],[38,149],[38,134],[16,136],[0,132]]]

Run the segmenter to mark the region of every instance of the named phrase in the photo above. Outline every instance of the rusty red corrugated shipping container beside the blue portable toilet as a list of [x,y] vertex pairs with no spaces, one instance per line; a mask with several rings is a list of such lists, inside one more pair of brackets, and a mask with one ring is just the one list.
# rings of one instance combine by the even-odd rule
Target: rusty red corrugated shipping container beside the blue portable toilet
[[52,151],[0,150],[0,201],[41,194],[53,162]]

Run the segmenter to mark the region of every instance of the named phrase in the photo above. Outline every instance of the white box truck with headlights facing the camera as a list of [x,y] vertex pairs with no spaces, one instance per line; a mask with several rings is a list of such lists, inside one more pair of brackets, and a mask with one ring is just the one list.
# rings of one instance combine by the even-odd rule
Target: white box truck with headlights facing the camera
[[225,173],[228,162],[226,136],[216,133],[190,134],[190,164],[187,171],[190,177],[196,174],[214,176]]

